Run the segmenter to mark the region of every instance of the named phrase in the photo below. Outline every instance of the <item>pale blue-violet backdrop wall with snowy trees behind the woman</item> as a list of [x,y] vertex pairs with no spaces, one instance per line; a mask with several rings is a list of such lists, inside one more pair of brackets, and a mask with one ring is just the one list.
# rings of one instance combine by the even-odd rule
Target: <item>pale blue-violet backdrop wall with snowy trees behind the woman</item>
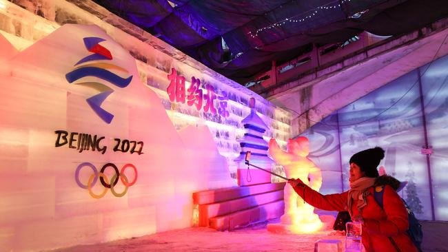
[[448,56],[419,67],[303,132],[323,169],[321,191],[347,190],[349,158],[378,145],[386,150],[380,165],[409,182],[400,195],[417,218],[448,220],[447,67]]

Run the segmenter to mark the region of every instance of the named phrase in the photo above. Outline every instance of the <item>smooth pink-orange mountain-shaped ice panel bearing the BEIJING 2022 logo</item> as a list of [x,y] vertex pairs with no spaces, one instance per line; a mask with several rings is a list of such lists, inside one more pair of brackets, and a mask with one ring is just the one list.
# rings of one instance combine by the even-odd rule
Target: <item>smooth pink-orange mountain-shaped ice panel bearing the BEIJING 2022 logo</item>
[[[87,37],[104,41],[93,43],[89,51],[83,41]],[[234,185],[216,147],[210,149],[210,132],[186,129],[189,133],[179,135],[159,98],[140,83],[132,56],[96,25],[63,25],[19,54],[3,38],[0,45],[0,251],[51,249],[190,227],[192,191]],[[112,59],[75,66],[91,54],[107,55],[103,48]],[[121,78],[132,76],[132,81],[119,87],[91,74],[72,83],[65,78],[91,63]],[[104,90],[113,90],[101,103],[114,116],[109,124],[86,101]],[[107,149],[103,154],[80,151],[79,138],[72,141],[73,148],[70,143],[56,147],[58,130],[68,132],[68,140],[72,132],[104,137],[99,145]],[[118,151],[115,138],[121,141]],[[143,154],[119,151],[126,149],[125,140],[142,142]],[[98,181],[92,193],[106,190],[105,196],[92,198],[76,182],[75,171],[83,162],[97,171],[109,162],[118,169],[130,163],[138,176],[122,197]],[[130,168],[123,173],[129,182],[136,176]],[[104,174],[110,181],[115,172],[108,167]],[[91,175],[92,169],[83,167],[79,181],[87,185]],[[125,190],[122,181],[114,190]]]

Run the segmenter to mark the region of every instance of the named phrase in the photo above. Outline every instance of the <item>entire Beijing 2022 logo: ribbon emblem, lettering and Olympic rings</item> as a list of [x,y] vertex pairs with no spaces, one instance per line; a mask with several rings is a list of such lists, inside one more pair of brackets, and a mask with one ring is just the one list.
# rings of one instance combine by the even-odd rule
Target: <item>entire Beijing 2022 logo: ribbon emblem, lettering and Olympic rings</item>
[[[110,72],[110,70],[117,70],[120,72],[125,72],[125,74],[129,74],[129,72],[122,67],[119,67],[118,65],[114,65],[108,62],[104,61],[111,61],[112,60],[112,54],[110,51],[106,48],[104,48],[102,45],[99,45],[102,41],[105,41],[105,39],[101,39],[98,37],[86,37],[83,39],[85,48],[88,50],[88,52],[92,52],[93,54],[90,54],[88,56],[85,56],[83,59],[78,61],[76,64],[74,64],[75,68],[69,72],[68,74],[65,74],[65,78],[67,79],[68,83],[74,83],[78,81],[81,78],[84,78],[86,76],[94,76],[97,78],[101,78],[103,81],[108,81],[109,83],[112,83],[116,87],[124,88],[128,87],[130,82],[132,81],[132,75],[128,76],[127,78],[121,78],[120,76],[114,74],[113,72]],[[93,62],[92,61],[96,61]],[[94,81],[79,81],[77,83],[74,83],[74,85],[83,85],[85,87],[91,87],[94,90],[97,90],[99,94],[96,94],[90,98],[87,98],[85,101],[87,101],[88,105],[93,109],[93,111],[96,113],[96,115],[99,116],[105,123],[110,124],[112,122],[112,119],[114,118],[114,115],[110,112],[107,112],[105,109],[101,107],[101,104],[103,101],[105,101],[110,94],[114,92],[111,87],[108,87],[107,85],[104,85],[103,83],[94,82]],[[61,131],[59,132],[59,138],[61,137]],[[65,132],[65,134],[68,134]],[[70,134],[70,140],[67,140],[65,135],[65,143],[69,143],[70,148],[76,148],[72,146],[72,143],[75,141],[78,141],[78,147],[81,145],[81,151],[83,149],[89,149],[90,142],[94,143],[96,142],[96,135],[92,139],[86,138],[85,136],[90,136],[90,134],[81,134],[81,136],[84,136],[83,138],[75,138],[75,134],[78,135],[78,133]],[[59,139],[58,138],[58,139]],[[115,138],[115,140],[120,140],[119,138]],[[101,140],[101,138],[99,138]],[[58,143],[59,140],[57,140]],[[99,143],[99,142],[96,142]],[[129,141],[128,141],[129,143]],[[143,147],[143,142],[141,143]],[[56,144],[58,147],[58,144]],[[60,145],[61,146],[61,145]],[[98,145],[94,145],[98,147]],[[92,145],[92,151],[94,151],[95,147]],[[124,141],[122,145],[122,149],[125,149],[124,147]],[[80,148],[78,148],[80,149]],[[126,151],[129,149],[128,148]],[[79,151],[79,152],[81,152]],[[105,151],[105,148],[104,148]],[[125,152],[125,151],[123,151]],[[103,152],[104,153],[104,152]],[[81,182],[80,180],[80,171],[83,169],[83,167],[90,167],[92,169],[92,172],[90,173],[90,176],[88,178],[87,184],[85,182]],[[105,176],[105,169],[112,168],[115,171],[114,176],[112,176],[111,180],[109,181],[107,176]],[[125,176],[125,170],[128,168],[132,168],[134,170],[134,178],[132,181],[128,180],[128,177]],[[129,170],[129,169],[128,169]],[[83,172],[85,174],[85,172]],[[108,162],[107,164],[103,165],[101,169],[98,171],[96,167],[91,162],[82,162],[80,165],[78,165],[75,174],[74,174],[74,180],[77,182],[77,185],[83,189],[87,189],[89,191],[90,196],[92,198],[103,198],[105,196],[105,193],[107,193],[110,189],[112,194],[116,197],[123,197],[127,192],[128,188],[134,185],[134,183],[137,180],[137,169],[132,164],[125,164],[121,169],[119,170],[116,165],[114,165],[112,162]],[[96,184],[97,181],[101,182],[101,185],[103,185],[104,189],[101,193],[96,194],[92,191],[92,187]],[[117,192],[115,189],[115,186],[117,182],[121,180],[121,183],[124,185],[124,189],[121,192]]]

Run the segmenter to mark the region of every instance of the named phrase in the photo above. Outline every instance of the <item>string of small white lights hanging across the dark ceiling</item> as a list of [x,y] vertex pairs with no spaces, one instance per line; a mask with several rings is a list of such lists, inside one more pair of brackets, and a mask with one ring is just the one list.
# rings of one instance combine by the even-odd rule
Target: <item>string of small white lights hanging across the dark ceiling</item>
[[247,34],[252,36],[252,38],[255,38],[256,36],[258,36],[258,34],[260,32],[263,32],[265,30],[269,30],[269,29],[272,29],[272,28],[277,28],[277,27],[280,27],[282,25],[285,25],[286,23],[301,23],[303,21],[307,21],[308,19],[311,19],[312,17],[316,16],[319,12],[321,12],[323,10],[332,10],[332,9],[336,10],[336,8],[340,8],[340,4],[345,3],[345,2],[349,2],[349,1],[351,1],[351,0],[342,0],[342,1],[340,1],[340,3],[335,4],[335,5],[330,5],[332,3],[327,3],[324,6],[319,6],[317,8],[314,8],[312,10],[309,10],[309,11],[305,12],[305,13],[307,13],[305,16],[303,15],[304,13],[301,13],[301,14],[298,14],[298,15],[296,15],[294,17],[289,17],[289,18],[283,19],[281,21],[278,21],[276,23],[272,23],[271,25],[267,25],[267,26],[265,26],[263,28],[259,28],[255,32],[252,32],[252,31],[247,32]]

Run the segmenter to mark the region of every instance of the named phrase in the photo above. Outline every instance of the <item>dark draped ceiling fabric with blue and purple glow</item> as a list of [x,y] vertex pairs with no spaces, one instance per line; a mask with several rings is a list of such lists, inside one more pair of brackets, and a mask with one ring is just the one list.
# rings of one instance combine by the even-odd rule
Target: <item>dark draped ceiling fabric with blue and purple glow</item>
[[94,2],[242,84],[313,44],[342,44],[363,31],[394,36],[448,15],[448,0]]

